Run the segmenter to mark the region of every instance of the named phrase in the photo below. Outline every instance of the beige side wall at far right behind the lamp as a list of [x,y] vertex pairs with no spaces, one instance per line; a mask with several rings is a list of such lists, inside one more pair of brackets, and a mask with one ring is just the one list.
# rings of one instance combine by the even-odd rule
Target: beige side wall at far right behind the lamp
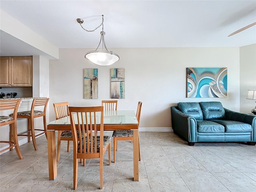
[[250,113],[255,100],[246,99],[247,90],[256,90],[256,44],[240,47],[240,111]]

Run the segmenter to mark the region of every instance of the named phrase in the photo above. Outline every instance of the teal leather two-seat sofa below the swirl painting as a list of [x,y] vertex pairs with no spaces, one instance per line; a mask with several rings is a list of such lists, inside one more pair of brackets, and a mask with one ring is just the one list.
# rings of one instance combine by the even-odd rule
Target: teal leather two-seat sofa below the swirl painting
[[180,102],[171,107],[172,129],[188,141],[256,144],[256,115],[223,108],[221,102]]

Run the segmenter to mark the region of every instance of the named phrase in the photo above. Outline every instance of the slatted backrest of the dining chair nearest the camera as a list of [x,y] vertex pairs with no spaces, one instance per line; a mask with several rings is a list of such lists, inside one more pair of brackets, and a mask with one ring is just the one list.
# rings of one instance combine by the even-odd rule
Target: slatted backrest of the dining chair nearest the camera
[[[76,158],[100,158],[100,154],[103,154],[104,137],[103,106],[69,107],[69,111]],[[77,124],[75,123],[76,119]],[[97,152],[97,126],[100,131],[100,152]],[[79,142],[78,147],[75,146],[78,144],[77,130],[79,138],[83,137],[83,142]]]

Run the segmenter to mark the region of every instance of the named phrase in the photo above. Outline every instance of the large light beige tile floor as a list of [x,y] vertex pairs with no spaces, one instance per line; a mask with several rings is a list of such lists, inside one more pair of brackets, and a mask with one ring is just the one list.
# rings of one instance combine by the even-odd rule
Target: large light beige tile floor
[[[22,160],[15,150],[0,156],[1,192],[73,191],[73,154],[72,150],[66,152],[66,142],[62,142],[54,181],[48,178],[45,136],[37,138],[37,143],[37,151],[32,143],[21,146]],[[188,146],[173,132],[140,132],[140,144],[139,182],[133,181],[132,143],[120,141],[116,163],[108,166],[105,153],[103,190],[99,190],[98,159],[88,159],[85,167],[78,165],[76,192],[256,192],[256,146]]]

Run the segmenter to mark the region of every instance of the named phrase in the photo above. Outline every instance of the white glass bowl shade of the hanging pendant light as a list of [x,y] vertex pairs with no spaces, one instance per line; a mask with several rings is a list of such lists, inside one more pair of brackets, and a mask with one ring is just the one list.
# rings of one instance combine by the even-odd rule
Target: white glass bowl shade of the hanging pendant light
[[119,60],[119,56],[110,51],[89,51],[84,56],[86,59],[90,60],[91,62],[101,65],[101,66],[108,66],[112,65]]

